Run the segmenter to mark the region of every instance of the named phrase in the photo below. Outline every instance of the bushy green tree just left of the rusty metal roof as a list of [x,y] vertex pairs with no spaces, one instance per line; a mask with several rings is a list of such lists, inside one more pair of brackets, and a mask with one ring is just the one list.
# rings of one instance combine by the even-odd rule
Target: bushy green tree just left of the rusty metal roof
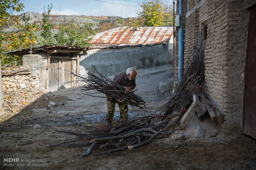
[[88,36],[93,34],[90,28],[92,24],[76,24],[74,20],[70,24],[59,25],[59,32],[54,35],[56,44],[66,46],[89,46]]

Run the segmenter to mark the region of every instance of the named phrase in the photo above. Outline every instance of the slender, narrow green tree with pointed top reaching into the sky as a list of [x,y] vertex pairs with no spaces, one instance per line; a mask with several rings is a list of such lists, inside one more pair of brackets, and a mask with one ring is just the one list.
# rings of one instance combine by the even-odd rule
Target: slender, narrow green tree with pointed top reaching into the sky
[[43,37],[43,44],[53,44],[53,33],[51,32],[53,29],[52,23],[50,23],[50,13],[52,10],[52,4],[48,5],[47,11],[43,12],[43,25],[41,27],[41,36]]

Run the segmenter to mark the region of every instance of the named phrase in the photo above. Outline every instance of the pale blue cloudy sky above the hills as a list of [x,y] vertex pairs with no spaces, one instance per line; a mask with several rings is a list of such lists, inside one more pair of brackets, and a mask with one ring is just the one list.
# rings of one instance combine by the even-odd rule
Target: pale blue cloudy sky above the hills
[[[143,0],[20,0],[24,10],[43,13],[43,7],[52,3],[52,13],[59,15],[135,17]],[[170,0],[172,2],[172,0]]]

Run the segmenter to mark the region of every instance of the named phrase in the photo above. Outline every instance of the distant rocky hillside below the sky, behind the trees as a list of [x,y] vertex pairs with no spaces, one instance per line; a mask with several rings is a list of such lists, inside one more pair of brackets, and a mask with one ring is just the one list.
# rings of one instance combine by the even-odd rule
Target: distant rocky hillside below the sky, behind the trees
[[[35,12],[26,12],[18,17],[21,18],[26,14],[26,16],[30,16],[30,21],[29,23],[37,23],[38,25],[41,25],[43,23],[43,15],[38,14]],[[120,17],[117,16],[76,16],[76,15],[50,15],[50,21],[54,25],[54,29],[58,30],[58,25],[61,23],[70,23],[72,19],[76,21],[76,23],[93,23],[94,26],[92,29],[94,29],[96,32],[102,32],[107,29],[111,29],[116,27],[118,25],[117,21]],[[24,24],[24,22],[21,22],[21,24]],[[13,28],[12,25],[14,23],[8,25],[7,27],[3,28],[2,30],[4,32],[13,32],[16,31],[17,28]]]

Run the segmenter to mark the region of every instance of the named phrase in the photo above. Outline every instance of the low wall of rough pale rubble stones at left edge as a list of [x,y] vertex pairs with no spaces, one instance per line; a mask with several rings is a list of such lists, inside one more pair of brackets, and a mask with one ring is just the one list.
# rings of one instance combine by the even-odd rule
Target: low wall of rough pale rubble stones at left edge
[[30,71],[14,70],[13,75],[2,73],[2,90],[4,98],[5,115],[12,115],[29,103],[35,101],[44,94],[44,88],[40,88],[38,74],[30,74]]

